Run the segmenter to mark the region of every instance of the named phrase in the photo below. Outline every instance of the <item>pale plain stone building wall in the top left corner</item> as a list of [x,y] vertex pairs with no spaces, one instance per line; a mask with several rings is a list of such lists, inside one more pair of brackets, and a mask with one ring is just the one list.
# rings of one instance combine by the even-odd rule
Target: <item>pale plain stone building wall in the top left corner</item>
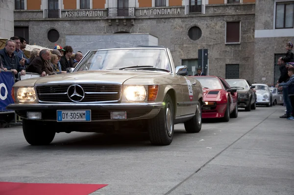
[[14,0],[0,0],[0,37],[14,36]]

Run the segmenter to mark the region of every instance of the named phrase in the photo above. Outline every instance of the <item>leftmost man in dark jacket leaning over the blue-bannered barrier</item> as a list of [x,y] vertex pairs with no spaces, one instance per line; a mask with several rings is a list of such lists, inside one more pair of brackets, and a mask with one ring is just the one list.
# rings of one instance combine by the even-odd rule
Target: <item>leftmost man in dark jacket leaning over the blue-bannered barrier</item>
[[25,68],[21,66],[18,56],[14,54],[15,45],[15,41],[7,40],[5,48],[0,50],[3,68],[12,71],[15,75],[17,75],[18,72],[20,72],[21,75],[25,75]]

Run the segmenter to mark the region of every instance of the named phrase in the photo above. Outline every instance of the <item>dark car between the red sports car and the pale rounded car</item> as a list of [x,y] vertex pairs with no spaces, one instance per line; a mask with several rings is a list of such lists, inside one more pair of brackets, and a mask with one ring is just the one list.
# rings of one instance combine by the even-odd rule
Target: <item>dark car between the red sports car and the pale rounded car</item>
[[231,88],[237,89],[238,107],[245,108],[245,111],[256,109],[256,93],[253,86],[246,79],[225,79]]

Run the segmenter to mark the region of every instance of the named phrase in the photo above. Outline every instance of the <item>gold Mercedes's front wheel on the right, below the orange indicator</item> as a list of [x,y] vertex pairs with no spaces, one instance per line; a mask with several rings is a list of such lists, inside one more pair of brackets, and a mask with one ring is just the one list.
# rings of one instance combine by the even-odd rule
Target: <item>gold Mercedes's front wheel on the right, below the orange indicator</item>
[[174,133],[172,97],[167,94],[164,102],[165,107],[156,117],[148,121],[149,139],[151,144],[156,146],[170,145]]

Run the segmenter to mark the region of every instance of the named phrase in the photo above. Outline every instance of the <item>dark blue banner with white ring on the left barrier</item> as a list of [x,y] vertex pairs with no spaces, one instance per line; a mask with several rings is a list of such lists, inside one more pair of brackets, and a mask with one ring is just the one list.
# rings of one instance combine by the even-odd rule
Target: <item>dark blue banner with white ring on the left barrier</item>
[[[10,103],[14,103],[11,95],[12,86],[16,82],[15,75],[12,71],[0,70],[0,124],[21,124],[20,117],[14,111],[6,110],[6,106]],[[3,90],[4,89],[4,90]],[[2,92],[2,93],[1,93]],[[3,94],[4,92],[4,94]],[[14,120],[14,122],[12,122]]]

